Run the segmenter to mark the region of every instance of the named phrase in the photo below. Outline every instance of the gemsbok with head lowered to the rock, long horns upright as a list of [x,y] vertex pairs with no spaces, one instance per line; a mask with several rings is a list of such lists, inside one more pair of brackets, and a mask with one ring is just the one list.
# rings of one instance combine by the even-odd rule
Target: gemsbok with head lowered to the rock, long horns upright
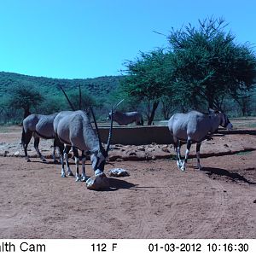
[[[73,154],[76,164],[76,181],[86,181],[88,177],[85,174],[85,154],[90,153],[90,160],[95,175],[104,171],[110,140],[112,137],[113,121],[109,128],[108,143],[106,149],[102,146],[101,137],[96,124],[96,118],[91,108],[96,132],[90,124],[90,119],[84,111],[62,111],[58,113],[54,120],[54,130],[56,137],[61,143],[65,144],[64,151],[61,151],[61,177],[66,177],[64,169],[64,158],[67,166],[67,174],[72,175],[67,161],[67,153],[73,148]],[[82,177],[79,175],[79,152],[82,151]]]

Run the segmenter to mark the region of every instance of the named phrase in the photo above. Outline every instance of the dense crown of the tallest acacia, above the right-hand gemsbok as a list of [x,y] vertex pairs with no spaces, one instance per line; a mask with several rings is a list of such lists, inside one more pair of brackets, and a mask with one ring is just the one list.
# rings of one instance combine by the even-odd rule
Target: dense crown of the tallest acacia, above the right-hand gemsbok
[[184,104],[221,108],[224,96],[238,98],[253,87],[256,58],[248,44],[236,44],[223,19],[199,20],[199,28],[172,30],[173,88]]

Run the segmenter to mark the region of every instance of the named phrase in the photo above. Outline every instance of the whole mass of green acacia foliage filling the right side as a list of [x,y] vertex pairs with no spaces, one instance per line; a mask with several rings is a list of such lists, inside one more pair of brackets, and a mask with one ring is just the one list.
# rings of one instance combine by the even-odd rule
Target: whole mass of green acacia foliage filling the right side
[[226,26],[223,19],[210,18],[199,20],[199,27],[172,29],[168,49],[141,53],[136,61],[126,62],[123,90],[140,97],[148,119],[158,102],[165,119],[177,108],[221,110],[230,107],[232,99],[233,108],[250,113],[256,56],[250,44],[236,44]]

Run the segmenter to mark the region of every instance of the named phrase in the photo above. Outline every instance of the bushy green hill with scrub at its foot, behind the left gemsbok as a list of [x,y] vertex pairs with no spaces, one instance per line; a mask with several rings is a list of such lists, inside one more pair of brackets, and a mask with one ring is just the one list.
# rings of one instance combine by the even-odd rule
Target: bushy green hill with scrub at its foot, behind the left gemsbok
[[119,86],[120,79],[121,76],[104,76],[95,79],[50,79],[0,72],[0,123],[20,123],[23,118],[24,110],[9,108],[8,104],[9,99],[13,98],[13,88],[20,85],[37,90],[44,97],[44,102],[31,108],[32,113],[43,114],[70,109],[60,85],[67,92],[74,108],[78,108],[78,100],[75,96],[79,95],[79,85],[81,85],[82,108],[86,108],[86,104],[88,106],[90,102],[93,102],[97,116],[106,119],[107,113],[102,113],[102,109],[108,106],[111,95]]

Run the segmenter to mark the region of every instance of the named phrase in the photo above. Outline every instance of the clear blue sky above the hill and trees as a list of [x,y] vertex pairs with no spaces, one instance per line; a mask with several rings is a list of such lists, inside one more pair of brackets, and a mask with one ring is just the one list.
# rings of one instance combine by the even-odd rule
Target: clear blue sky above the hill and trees
[[167,45],[172,27],[223,17],[256,44],[255,0],[0,0],[0,71],[49,78],[119,75],[125,60]]

